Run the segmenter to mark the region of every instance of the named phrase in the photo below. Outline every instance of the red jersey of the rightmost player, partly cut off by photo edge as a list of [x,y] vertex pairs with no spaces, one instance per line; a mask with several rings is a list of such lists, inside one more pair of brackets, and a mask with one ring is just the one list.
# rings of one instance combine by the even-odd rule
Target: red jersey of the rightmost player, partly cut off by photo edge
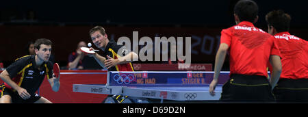
[[289,32],[274,35],[281,52],[281,78],[308,79],[308,42]]

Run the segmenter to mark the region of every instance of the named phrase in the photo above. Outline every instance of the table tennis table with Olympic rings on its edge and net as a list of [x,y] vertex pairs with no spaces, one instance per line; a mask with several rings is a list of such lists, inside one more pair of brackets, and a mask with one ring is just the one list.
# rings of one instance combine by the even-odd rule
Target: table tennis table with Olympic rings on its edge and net
[[215,96],[209,94],[213,74],[211,71],[110,71],[106,84],[73,84],[73,92],[108,94],[103,103],[117,103],[118,95],[122,96],[118,103],[218,101],[229,71],[220,72]]

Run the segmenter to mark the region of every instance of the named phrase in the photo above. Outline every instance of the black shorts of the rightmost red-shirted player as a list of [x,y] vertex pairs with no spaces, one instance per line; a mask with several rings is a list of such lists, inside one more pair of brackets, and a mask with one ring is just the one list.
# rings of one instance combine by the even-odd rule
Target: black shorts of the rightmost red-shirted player
[[279,79],[273,93],[278,102],[308,103],[308,79]]

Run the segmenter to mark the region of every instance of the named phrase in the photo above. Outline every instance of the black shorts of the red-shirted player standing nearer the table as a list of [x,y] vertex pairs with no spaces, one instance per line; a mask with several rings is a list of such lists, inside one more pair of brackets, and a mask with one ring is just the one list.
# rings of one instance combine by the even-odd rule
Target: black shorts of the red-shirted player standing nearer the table
[[220,101],[274,102],[274,95],[266,77],[233,74],[222,86]]

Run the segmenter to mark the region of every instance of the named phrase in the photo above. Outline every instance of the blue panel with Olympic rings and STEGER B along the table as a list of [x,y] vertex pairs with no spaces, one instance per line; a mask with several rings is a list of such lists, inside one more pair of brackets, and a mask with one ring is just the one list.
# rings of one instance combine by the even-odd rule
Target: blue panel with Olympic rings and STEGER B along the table
[[[164,74],[162,74],[164,73]],[[214,72],[118,72],[110,74],[110,86],[206,86],[213,79]],[[218,84],[229,79],[229,72],[220,73]]]

